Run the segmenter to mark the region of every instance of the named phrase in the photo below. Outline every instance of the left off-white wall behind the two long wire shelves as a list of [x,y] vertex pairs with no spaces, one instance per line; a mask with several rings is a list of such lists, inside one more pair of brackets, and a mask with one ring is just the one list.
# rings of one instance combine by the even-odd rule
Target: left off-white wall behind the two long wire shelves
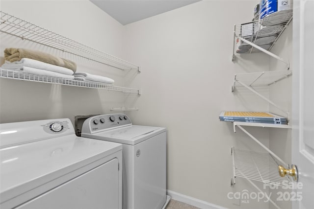
[[[121,57],[123,26],[88,0],[16,1],[1,0],[0,7],[30,23],[37,24],[87,46]],[[22,41],[1,33],[0,58],[5,47],[32,48],[68,58],[78,64],[77,71],[104,75],[124,86],[126,72],[84,58]],[[109,114],[111,107],[121,107],[123,93],[80,87],[0,80],[0,122]]]

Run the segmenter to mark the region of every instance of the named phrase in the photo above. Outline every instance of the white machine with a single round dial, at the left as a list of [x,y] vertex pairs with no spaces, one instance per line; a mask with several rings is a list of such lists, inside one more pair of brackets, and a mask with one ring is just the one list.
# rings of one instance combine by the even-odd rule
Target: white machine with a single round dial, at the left
[[1,209],[121,209],[122,145],[69,119],[0,124]]

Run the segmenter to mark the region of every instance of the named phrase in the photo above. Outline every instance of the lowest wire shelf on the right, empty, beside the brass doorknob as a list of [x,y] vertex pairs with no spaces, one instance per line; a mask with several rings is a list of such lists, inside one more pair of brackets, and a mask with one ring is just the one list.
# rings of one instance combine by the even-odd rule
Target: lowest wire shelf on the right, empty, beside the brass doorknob
[[232,148],[232,156],[234,177],[278,186],[287,186],[285,183],[291,182],[288,177],[279,176],[278,163],[268,153]]

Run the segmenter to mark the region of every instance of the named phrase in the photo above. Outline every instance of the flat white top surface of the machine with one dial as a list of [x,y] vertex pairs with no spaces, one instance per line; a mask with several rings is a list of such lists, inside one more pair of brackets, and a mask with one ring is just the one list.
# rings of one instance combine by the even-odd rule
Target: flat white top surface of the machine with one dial
[[1,203],[121,149],[121,144],[74,134],[2,148]]

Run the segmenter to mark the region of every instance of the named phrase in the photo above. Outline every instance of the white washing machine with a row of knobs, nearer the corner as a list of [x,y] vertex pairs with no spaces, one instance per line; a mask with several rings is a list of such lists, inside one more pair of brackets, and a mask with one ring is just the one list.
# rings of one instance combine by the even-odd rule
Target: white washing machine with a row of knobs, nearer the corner
[[123,144],[123,208],[162,209],[166,196],[166,129],[132,125],[124,114],[93,116],[82,137]]

